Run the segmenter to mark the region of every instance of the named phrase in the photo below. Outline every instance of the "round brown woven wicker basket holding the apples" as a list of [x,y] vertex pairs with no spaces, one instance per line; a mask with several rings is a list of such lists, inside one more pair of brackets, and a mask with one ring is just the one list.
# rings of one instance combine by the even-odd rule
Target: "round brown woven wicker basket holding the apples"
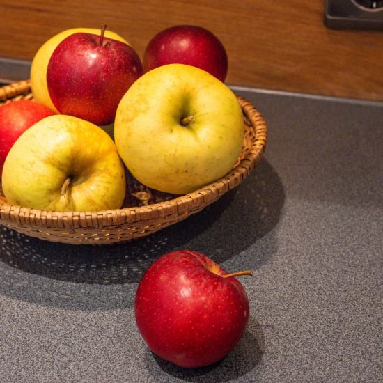
[[[32,98],[29,81],[0,87],[0,104]],[[237,98],[244,113],[242,153],[234,168],[216,182],[184,196],[174,196],[148,189],[127,174],[123,208],[100,212],[52,212],[9,205],[0,187],[0,224],[52,242],[112,244],[150,235],[201,211],[239,185],[265,150],[265,120],[250,102]]]

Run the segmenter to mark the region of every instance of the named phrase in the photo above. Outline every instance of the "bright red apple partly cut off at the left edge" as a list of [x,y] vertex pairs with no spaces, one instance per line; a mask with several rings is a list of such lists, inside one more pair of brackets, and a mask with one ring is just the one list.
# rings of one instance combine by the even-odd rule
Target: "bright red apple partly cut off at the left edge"
[[55,114],[40,102],[19,100],[0,107],[0,175],[10,148],[29,127]]

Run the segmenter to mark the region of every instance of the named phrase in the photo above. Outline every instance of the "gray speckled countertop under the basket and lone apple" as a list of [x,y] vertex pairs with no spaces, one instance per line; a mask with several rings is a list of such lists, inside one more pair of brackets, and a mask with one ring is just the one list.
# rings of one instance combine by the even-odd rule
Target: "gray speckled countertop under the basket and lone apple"
[[[0,227],[0,382],[383,380],[383,104],[236,91],[265,116],[267,150],[203,212],[110,247]],[[254,274],[247,331],[207,368],[153,356],[134,322],[143,271],[178,248]]]

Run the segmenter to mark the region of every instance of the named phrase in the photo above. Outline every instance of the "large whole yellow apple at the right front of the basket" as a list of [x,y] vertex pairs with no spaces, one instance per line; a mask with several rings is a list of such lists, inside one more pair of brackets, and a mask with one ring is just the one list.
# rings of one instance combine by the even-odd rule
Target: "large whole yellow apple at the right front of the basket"
[[244,120],[224,83],[191,65],[169,64],[141,76],[120,101],[118,153],[143,185],[186,194],[223,177],[242,148]]

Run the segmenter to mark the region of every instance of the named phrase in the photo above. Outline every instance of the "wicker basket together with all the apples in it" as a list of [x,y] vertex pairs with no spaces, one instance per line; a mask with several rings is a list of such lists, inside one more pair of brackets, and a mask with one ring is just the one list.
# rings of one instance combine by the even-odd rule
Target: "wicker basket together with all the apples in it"
[[227,68],[224,46],[197,26],[158,33],[142,62],[106,26],[45,42],[31,79],[0,88],[0,224],[113,244],[217,201],[267,141],[263,116],[224,83]]

